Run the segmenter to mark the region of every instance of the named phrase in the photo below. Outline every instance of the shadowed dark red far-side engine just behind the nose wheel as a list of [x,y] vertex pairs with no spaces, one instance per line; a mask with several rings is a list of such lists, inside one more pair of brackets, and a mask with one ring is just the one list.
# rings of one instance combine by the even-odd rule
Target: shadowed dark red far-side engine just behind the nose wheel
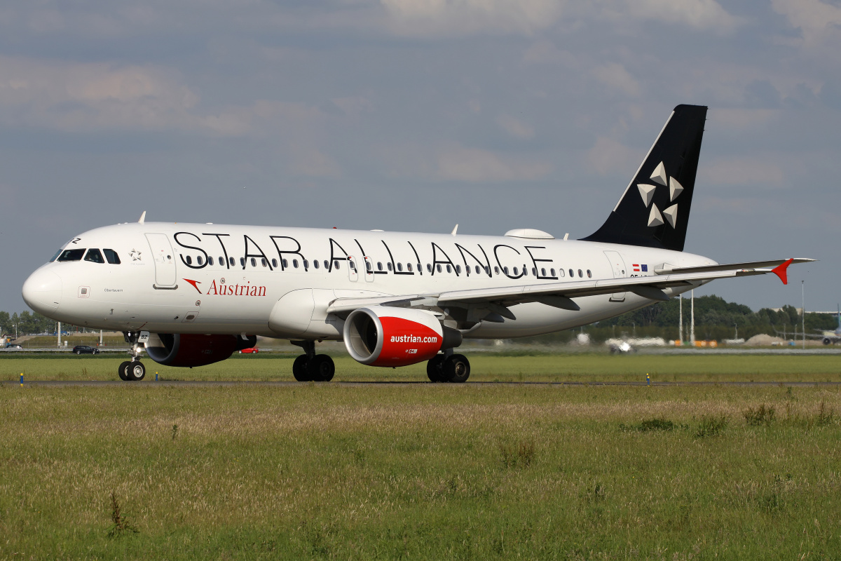
[[235,351],[254,347],[257,337],[236,335],[193,335],[188,333],[150,333],[146,354],[166,366],[205,366],[229,358]]

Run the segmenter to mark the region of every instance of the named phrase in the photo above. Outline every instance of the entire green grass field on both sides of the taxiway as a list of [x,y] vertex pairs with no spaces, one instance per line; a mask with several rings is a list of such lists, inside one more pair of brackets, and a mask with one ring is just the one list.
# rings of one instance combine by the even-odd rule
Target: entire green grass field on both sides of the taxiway
[[[841,363],[796,357],[798,374],[789,357],[723,357],[728,373],[696,356],[523,358],[472,357],[473,369],[738,378],[775,366],[821,378]],[[380,376],[344,360],[342,377]],[[115,362],[0,368],[7,379],[16,369],[81,379],[81,368],[110,379]],[[290,362],[243,357],[167,375],[290,379]],[[7,383],[0,409],[4,559],[841,555],[834,387]]]

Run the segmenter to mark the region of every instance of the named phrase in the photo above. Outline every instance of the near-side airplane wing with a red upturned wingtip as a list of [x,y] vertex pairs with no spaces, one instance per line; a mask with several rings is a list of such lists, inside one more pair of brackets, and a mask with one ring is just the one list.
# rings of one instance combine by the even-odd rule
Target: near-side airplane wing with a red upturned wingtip
[[[540,302],[563,310],[579,310],[574,298],[631,292],[653,300],[668,300],[664,288],[686,287],[691,283],[715,280],[717,278],[746,277],[775,273],[783,283],[788,283],[786,268],[793,262],[807,262],[812,259],[783,259],[775,262],[776,267],[739,267],[717,265],[719,270],[685,273],[658,274],[650,277],[601,278],[569,281],[565,283],[520,284],[493,288],[471,288],[452,290],[440,294],[406,294],[380,296],[363,299],[336,299],[327,308],[328,313],[345,315],[357,308],[371,305],[397,306],[403,308],[463,308],[471,312],[474,320],[502,321],[516,319],[508,306],[526,302]],[[704,268],[704,267],[699,267]],[[482,315],[484,314],[484,315]],[[499,317],[497,317],[499,316]],[[476,319],[478,318],[478,319]]]

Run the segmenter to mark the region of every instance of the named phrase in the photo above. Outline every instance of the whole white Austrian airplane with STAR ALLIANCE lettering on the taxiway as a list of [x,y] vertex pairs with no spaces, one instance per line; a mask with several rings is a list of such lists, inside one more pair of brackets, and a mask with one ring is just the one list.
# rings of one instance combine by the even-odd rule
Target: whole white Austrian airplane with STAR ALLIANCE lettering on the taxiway
[[582,240],[145,222],[88,230],[24,283],[53,320],[123,331],[140,380],[157,363],[194,367],[253,347],[303,347],[300,381],[333,378],[316,341],[344,341],[371,366],[428,361],[464,382],[462,341],[535,336],[605,320],[717,278],[775,273],[792,258],[720,265],[683,252],[706,107],[679,105],[605,224]]

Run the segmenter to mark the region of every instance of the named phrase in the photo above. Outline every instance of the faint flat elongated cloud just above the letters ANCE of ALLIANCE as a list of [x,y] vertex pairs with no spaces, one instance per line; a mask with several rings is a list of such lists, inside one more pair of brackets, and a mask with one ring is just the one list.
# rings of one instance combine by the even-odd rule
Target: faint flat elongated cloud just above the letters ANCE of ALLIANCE
[[437,164],[439,179],[471,183],[534,181],[553,171],[551,165],[540,161],[463,146],[447,147],[438,155]]

